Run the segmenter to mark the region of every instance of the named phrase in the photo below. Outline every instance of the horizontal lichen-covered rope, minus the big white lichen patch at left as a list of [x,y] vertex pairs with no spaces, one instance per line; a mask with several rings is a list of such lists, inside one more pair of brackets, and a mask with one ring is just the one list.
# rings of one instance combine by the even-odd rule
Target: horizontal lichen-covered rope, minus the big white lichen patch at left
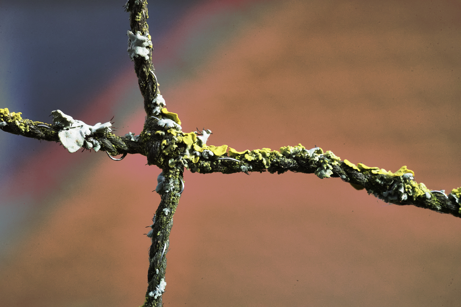
[[[139,153],[148,158],[148,164],[159,168],[176,168],[183,172],[246,173],[269,172],[283,174],[287,171],[316,174],[319,178],[339,177],[356,189],[365,189],[368,194],[384,202],[397,205],[414,205],[441,213],[461,217],[461,189],[446,195],[444,191],[431,191],[422,183],[414,181],[414,172],[402,167],[396,173],[384,169],[369,168],[347,160],[341,161],[331,151],[323,152],[319,147],[306,150],[302,145],[281,147],[280,151],[262,148],[253,151],[235,151],[227,145],[206,145],[211,131],[183,133],[175,113],[162,110],[159,117],[148,116],[139,137],[118,137],[112,133],[95,133],[85,140],[100,145],[100,150],[110,155]],[[70,117],[71,118],[71,117]],[[171,119],[172,118],[172,119]],[[94,126],[91,126],[94,127]],[[10,113],[0,109],[0,129],[29,138],[59,141],[59,132],[53,124],[34,122],[21,118],[21,113]],[[72,129],[72,128],[71,128]],[[87,148],[89,149],[89,148]]]

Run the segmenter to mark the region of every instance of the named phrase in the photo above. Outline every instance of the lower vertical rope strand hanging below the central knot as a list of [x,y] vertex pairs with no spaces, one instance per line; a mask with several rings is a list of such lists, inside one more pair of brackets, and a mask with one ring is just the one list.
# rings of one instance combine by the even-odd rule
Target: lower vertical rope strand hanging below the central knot
[[152,226],[152,244],[149,249],[148,289],[144,307],[162,306],[162,293],[165,291],[166,253],[170,245],[169,237],[183,189],[180,171],[170,168],[162,172],[165,180],[161,187],[161,201],[155,212]]

